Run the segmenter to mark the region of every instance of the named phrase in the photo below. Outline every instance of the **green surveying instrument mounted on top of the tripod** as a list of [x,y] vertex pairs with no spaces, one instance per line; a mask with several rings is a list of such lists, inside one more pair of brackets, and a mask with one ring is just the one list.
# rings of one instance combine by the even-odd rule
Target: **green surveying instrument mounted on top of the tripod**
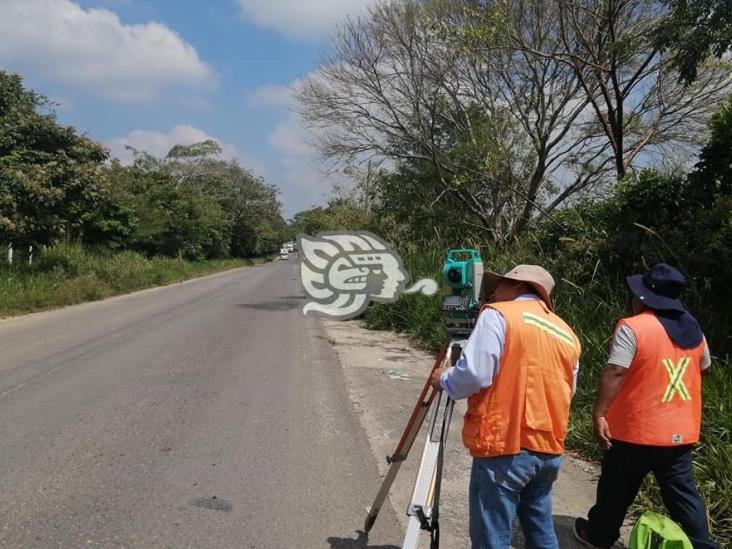
[[450,250],[442,267],[445,293],[442,311],[447,331],[452,336],[469,335],[480,312],[483,260],[478,250]]

